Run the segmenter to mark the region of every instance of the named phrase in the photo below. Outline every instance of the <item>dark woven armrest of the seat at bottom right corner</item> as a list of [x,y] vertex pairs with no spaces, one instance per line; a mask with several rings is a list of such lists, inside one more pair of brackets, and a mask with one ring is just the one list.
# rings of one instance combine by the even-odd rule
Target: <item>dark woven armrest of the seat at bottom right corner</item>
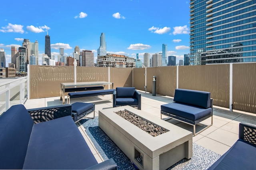
[[[239,124],[239,139],[256,145],[256,125],[250,123]],[[255,146],[256,147],[256,146]]]

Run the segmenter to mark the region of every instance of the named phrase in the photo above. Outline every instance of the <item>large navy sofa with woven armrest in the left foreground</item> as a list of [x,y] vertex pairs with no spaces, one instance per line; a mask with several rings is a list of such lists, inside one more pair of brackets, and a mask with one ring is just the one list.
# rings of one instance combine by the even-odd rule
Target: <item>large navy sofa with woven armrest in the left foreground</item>
[[98,164],[71,117],[71,105],[66,108],[64,117],[54,117],[53,109],[47,111],[47,107],[33,109],[34,118],[23,105],[4,112],[0,116],[0,169],[117,169],[112,159]]

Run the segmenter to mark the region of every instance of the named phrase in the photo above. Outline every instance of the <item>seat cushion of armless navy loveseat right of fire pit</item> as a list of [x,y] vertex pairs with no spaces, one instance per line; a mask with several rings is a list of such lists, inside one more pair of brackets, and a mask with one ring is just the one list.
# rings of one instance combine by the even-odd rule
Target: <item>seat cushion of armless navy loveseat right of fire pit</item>
[[186,117],[190,120],[197,120],[201,117],[204,117],[206,115],[211,114],[212,108],[204,109],[200,107],[193,107],[186,104],[180,104],[180,103],[169,103],[161,105],[161,111],[166,111],[168,113],[180,116],[180,117]]

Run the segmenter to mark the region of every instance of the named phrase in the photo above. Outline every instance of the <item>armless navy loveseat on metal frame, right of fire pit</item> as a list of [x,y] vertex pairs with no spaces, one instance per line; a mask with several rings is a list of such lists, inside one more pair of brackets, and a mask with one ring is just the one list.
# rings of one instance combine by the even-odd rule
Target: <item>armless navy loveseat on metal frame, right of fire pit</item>
[[176,89],[173,103],[161,105],[161,119],[162,115],[171,117],[178,121],[182,121],[194,127],[194,136],[204,131],[210,125],[204,127],[196,133],[196,124],[212,117],[213,121],[213,107],[210,92]]

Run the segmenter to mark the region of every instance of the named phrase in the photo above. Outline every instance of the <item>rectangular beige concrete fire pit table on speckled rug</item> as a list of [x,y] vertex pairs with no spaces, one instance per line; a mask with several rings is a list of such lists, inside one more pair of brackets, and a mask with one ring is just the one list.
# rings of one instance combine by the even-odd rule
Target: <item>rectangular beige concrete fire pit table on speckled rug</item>
[[[120,110],[134,113],[154,125],[167,129],[168,132],[153,137],[114,113]],[[192,157],[192,132],[134,107],[100,110],[99,127],[140,170],[164,170],[183,158]]]

